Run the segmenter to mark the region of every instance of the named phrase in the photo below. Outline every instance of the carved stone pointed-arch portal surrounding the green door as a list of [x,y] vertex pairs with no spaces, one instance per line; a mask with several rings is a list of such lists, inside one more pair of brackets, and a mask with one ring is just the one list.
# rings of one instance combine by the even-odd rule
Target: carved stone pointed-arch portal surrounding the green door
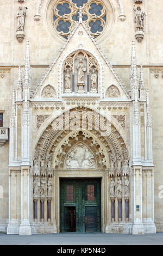
[[36,222],[48,220],[53,231],[60,231],[60,179],[99,178],[102,231],[111,232],[119,221],[130,233],[129,151],[115,124],[92,109],[76,107],[43,130],[34,152],[35,228]]

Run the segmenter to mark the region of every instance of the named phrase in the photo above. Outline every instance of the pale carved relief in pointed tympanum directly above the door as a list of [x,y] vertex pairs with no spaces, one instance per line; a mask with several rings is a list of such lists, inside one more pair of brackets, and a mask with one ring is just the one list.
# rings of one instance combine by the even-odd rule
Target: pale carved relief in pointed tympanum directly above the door
[[66,158],[66,168],[87,169],[95,168],[95,157],[82,143],[74,147]]

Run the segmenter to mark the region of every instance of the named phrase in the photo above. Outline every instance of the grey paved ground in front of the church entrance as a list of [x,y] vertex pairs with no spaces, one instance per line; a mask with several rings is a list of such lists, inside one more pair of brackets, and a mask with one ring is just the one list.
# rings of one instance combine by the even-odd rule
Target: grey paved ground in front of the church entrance
[[58,233],[32,236],[0,234],[0,245],[163,245],[163,233],[148,235]]

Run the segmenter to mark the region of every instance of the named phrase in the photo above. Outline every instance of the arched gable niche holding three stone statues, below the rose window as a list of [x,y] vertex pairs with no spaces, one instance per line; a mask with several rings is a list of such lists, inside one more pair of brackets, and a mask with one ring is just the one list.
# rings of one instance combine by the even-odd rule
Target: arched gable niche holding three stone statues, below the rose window
[[94,57],[84,51],[77,51],[65,60],[64,93],[97,93],[98,64]]

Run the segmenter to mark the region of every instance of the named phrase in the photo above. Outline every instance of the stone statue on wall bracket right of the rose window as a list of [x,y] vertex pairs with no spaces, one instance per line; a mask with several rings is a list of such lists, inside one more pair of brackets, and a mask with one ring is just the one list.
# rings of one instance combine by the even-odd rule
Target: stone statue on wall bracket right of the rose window
[[137,39],[137,41],[141,42],[142,39],[144,38],[144,18],[146,16],[145,13],[143,13],[141,11],[141,7],[138,6],[135,9],[135,5],[134,5],[134,13],[135,13],[135,38]]

